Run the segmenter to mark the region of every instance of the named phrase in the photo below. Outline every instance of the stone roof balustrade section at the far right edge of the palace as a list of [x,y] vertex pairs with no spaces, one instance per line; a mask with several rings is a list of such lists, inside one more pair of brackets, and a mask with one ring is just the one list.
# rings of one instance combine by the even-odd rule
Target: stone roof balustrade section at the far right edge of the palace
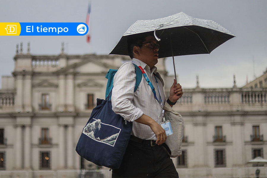
[[267,103],[266,91],[247,91],[241,93],[241,101],[245,104]]

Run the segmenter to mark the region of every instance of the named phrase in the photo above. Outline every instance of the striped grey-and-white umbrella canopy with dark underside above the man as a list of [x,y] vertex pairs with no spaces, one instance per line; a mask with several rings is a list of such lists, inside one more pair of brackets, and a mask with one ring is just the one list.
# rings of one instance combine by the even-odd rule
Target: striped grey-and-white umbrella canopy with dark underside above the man
[[[123,34],[109,54],[129,55],[127,40],[130,36],[155,32],[161,39],[159,58],[209,54],[216,47],[235,37],[230,31],[212,20],[193,18],[180,12],[155,20],[137,20]],[[173,51],[172,51],[173,49]]]

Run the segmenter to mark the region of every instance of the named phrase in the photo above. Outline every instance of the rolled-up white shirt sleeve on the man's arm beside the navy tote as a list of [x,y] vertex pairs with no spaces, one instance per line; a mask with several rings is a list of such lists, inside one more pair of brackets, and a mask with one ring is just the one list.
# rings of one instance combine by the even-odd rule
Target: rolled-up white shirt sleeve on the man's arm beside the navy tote
[[136,83],[135,67],[124,63],[114,76],[112,89],[112,110],[130,122],[141,117],[144,112],[132,103]]

